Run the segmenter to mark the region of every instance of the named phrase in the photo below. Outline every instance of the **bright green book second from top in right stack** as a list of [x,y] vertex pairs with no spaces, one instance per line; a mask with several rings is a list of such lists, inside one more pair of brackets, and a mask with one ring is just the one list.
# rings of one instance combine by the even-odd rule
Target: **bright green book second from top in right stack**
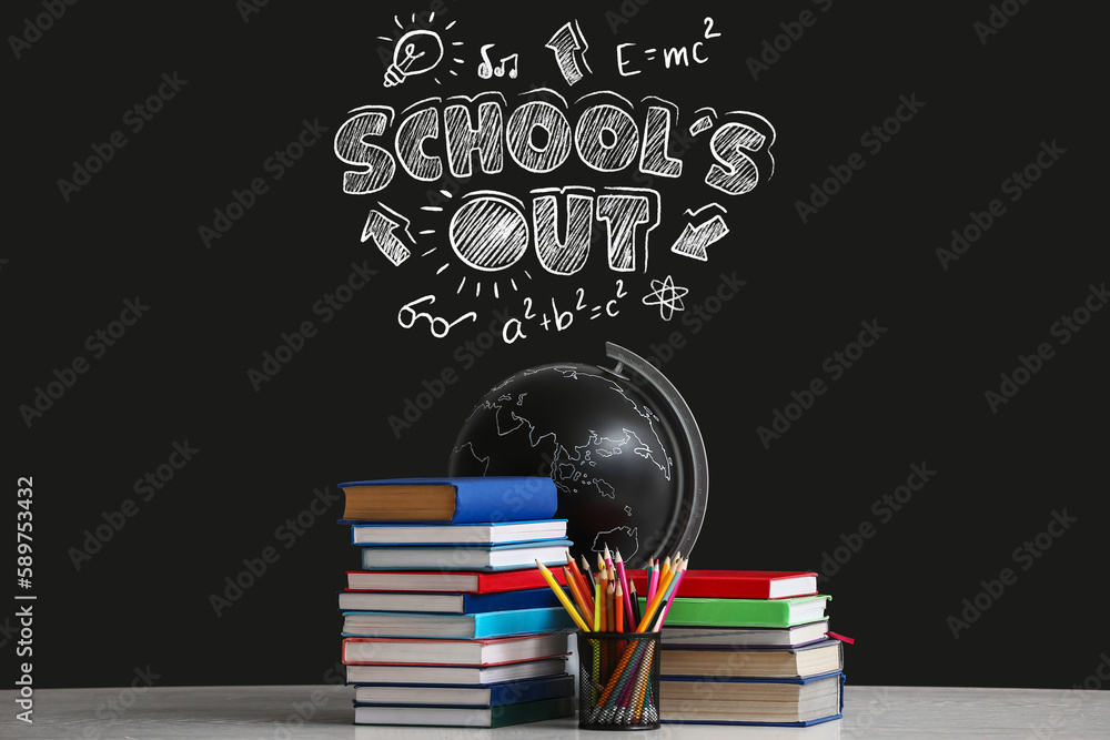
[[[676,597],[663,624],[667,627],[794,627],[825,618],[831,596],[793,599],[695,599]],[[640,609],[646,608],[640,599]]]

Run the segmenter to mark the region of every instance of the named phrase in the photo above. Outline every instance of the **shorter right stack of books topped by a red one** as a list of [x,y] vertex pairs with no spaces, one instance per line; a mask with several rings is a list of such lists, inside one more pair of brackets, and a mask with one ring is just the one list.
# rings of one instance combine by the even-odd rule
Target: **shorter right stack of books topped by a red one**
[[[629,570],[644,592],[648,571]],[[663,722],[808,726],[839,719],[840,640],[817,574],[687,570],[662,636]]]

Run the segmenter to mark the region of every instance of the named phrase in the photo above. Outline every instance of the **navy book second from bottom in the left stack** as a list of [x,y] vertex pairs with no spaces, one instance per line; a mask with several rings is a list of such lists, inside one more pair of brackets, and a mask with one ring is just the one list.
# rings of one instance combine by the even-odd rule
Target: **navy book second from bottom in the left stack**
[[505,707],[573,696],[574,677],[561,673],[491,686],[359,683],[354,687],[354,706]]

